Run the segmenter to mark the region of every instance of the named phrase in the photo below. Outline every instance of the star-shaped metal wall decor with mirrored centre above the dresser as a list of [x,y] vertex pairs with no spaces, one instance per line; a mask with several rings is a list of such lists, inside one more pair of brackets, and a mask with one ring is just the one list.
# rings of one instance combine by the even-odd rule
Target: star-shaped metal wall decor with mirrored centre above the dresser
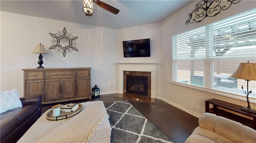
[[50,33],[50,35],[52,35],[53,45],[49,49],[55,49],[57,52],[61,52],[64,57],[66,53],[71,53],[73,50],[78,51],[75,43],[78,37],[67,33],[65,27],[62,31],[58,31],[56,34]]

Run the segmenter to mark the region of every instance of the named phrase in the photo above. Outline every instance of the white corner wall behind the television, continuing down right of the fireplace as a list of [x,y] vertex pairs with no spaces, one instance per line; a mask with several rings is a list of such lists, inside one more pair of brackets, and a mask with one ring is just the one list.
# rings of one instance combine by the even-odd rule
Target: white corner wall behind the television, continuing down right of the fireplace
[[[123,54],[122,41],[150,38],[150,57],[126,57]],[[146,24],[117,30],[118,63],[158,63],[156,65],[156,83],[160,83],[161,24]],[[160,96],[160,84],[156,84],[156,98]]]

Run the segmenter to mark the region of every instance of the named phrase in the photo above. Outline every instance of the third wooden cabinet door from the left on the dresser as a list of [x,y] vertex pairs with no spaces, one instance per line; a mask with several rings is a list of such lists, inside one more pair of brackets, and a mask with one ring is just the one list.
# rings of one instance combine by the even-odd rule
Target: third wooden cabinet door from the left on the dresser
[[62,99],[76,98],[76,78],[61,79]]

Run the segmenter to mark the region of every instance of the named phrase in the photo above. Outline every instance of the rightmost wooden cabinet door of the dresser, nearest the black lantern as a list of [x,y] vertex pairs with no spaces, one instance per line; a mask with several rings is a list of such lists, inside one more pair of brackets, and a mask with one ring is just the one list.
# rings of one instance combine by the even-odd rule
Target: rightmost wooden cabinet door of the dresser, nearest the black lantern
[[76,97],[90,97],[89,77],[76,79]]

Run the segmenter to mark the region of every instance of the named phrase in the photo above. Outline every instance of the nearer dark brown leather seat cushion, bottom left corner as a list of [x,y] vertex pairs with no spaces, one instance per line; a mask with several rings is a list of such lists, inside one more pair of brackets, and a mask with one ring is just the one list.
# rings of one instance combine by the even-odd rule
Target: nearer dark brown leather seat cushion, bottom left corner
[[15,117],[2,119],[2,115],[1,115],[0,123],[1,123],[0,138],[3,139],[9,133],[11,133],[16,127],[18,127],[18,125],[20,124],[20,120]]

